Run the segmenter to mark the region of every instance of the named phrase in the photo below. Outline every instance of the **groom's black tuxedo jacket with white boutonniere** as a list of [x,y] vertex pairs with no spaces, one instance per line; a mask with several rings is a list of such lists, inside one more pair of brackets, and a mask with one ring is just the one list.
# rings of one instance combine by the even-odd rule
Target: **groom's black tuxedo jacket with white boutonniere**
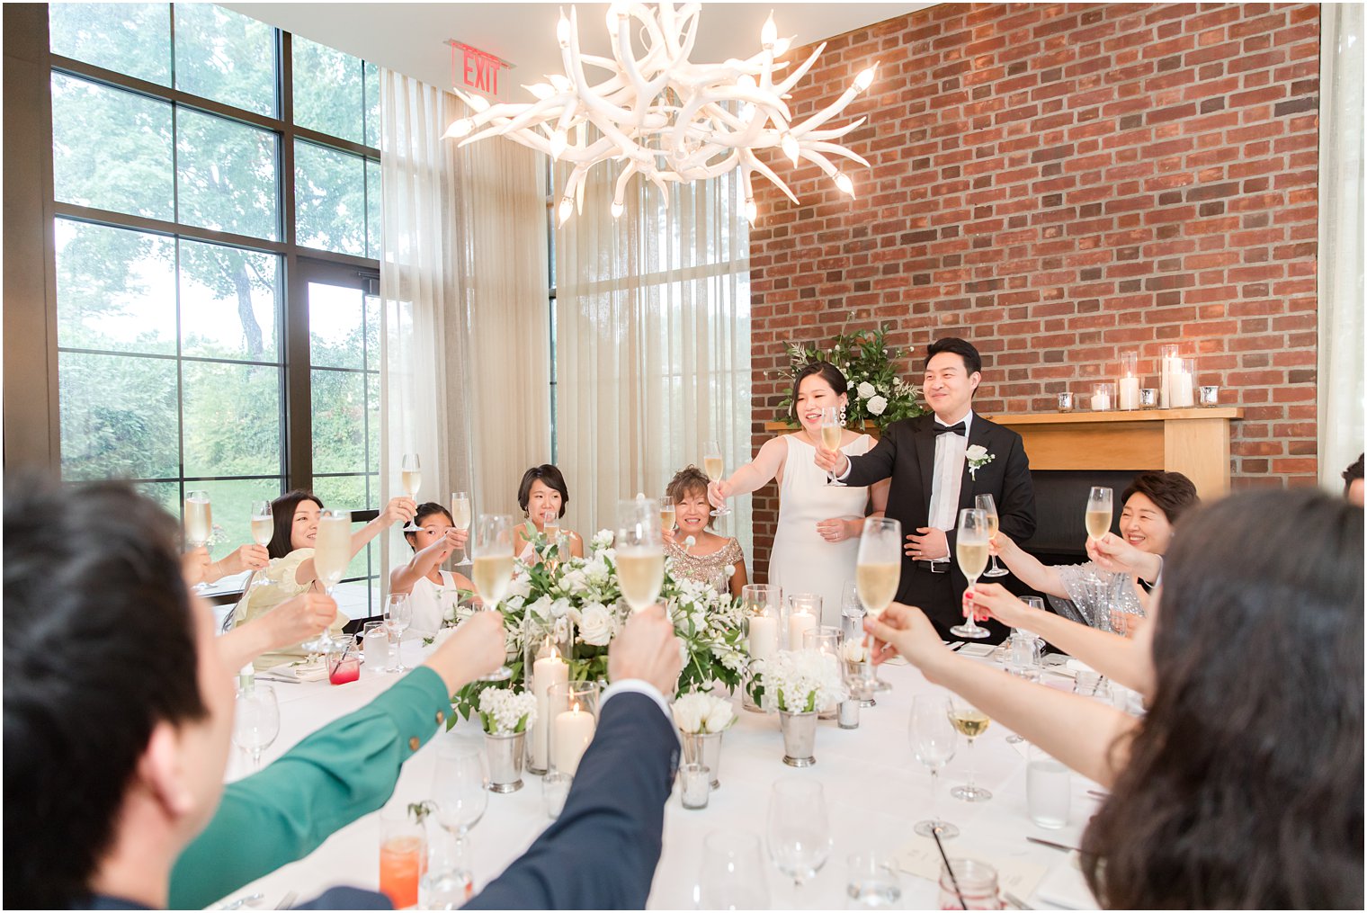
[[[850,472],[846,482],[850,485],[872,485],[891,478],[887,493],[887,515],[901,521],[902,536],[915,533],[928,525],[931,508],[931,484],[935,476],[935,415],[928,413],[916,418],[893,422],[883,432],[878,446],[863,457],[850,457]],[[997,503],[997,517],[1001,530],[1016,541],[1035,534],[1035,488],[1031,484],[1029,458],[1021,436],[1010,428],[995,425],[979,414],[968,429],[968,446],[986,447],[994,459],[969,472],[964,461],[964,478],[958,489],[958,511],[973,506],[975,495],[991,495]],[[928,574],[917,570],[908,558],[904,539],[902,582],[897,589],[897,601],[919,604],[935,621],[943,625],[958,625],[964,618],[962,593],[968,580],[954,560],[956,530],[947,530],[950,582],[953,596],[947,604],[925,605],[924,588],[916,586],[915,574]],[[913,596],[915,595],[915,596]],[[940,597],[943,600],[943,597]]]

